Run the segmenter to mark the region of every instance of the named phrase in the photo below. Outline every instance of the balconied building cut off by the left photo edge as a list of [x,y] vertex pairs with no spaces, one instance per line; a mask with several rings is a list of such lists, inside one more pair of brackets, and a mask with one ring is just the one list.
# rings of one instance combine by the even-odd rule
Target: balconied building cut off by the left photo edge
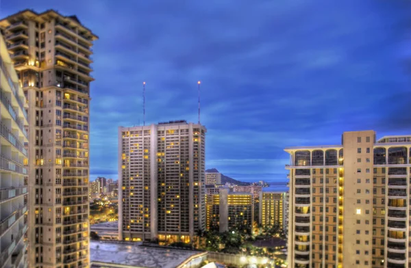
[[27,267],[27,103],[0,34],[0,267]]

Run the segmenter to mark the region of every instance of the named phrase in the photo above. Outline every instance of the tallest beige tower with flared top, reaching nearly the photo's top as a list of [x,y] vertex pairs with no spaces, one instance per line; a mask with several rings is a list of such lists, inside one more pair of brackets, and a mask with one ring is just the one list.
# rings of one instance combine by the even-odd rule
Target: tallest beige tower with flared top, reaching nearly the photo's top
[[92,41],[76,16],[24,10],[3,18],[29,103],[29,267],[88,267]]

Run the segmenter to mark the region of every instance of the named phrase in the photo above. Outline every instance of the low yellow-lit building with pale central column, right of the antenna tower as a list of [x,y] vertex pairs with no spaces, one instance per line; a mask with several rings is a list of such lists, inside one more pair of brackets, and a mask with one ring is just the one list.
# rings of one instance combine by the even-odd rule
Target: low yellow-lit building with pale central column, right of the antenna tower
[[254,198],[251,193],[229,192],[220,188],[219,193],[206,196],[206,228],[208,230],[253,230]]

